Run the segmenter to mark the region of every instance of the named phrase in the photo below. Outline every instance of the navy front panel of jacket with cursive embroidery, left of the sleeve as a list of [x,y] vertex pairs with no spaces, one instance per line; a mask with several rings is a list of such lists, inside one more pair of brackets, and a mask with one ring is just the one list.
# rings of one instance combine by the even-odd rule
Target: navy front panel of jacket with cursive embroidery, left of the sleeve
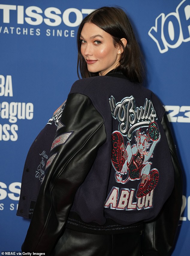
[[25,160],[17,216],[31,219],[40,186],[46,175],[52,142],[64,109],[64,103],[49,119],[31,144]]

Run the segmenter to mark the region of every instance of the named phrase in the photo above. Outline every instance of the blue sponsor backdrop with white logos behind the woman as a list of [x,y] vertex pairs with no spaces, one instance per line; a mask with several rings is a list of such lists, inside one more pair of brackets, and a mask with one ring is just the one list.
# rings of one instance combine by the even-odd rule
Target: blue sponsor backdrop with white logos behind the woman
[[[28,149],[64,102],[76,72],[76,34],[92,9],[116,1],[0,0],[0,251],[20,251],[29,221],[16,216]],[[132,21],[147,65],[147,88],[161,99],[183,168],[179,238],[189,255],[190,0],[117,0]]]

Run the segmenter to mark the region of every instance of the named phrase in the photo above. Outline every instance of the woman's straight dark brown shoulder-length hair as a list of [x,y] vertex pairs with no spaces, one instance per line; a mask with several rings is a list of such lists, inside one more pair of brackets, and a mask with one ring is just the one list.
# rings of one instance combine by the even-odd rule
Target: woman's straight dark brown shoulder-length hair
[[[80,35],[86,22],[92,22],[113,37],[114,46],[119,44],[123,48],[118,69],[121,70],[130,81],[142,83],[144,78],[144,67],[142,64],[141,51],[126,13],[118,7],[101,7],[82,20],[77,33],[78,77],[80,78],[79,70],[82,78],[98,76],[98,73],[91,73],[88,71],[86,61],[81,54]],[[121,42],[121,38],[126,38],[126,47],[124,47]]]

